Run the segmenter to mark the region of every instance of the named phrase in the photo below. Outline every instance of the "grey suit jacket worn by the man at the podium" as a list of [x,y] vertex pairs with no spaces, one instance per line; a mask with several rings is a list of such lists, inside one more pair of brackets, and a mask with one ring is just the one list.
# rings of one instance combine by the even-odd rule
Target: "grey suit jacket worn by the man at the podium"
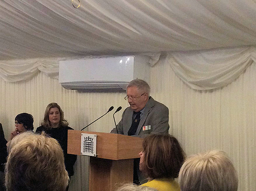
[[[128,135],[128,130],[132,125],[132,116],[133,110],[131,107],[126,108],[122,114],[122,120],[117,124],[118,134]],[[135,136],[144,138],[151,133],[168,134],[168,121],[168,108],[164,104],[157,102],[150,97],[145,106]],[[143,126],[147,126],[146,130],[143,130]],[[112,129],[111,133],[117,133],[116,128]]]

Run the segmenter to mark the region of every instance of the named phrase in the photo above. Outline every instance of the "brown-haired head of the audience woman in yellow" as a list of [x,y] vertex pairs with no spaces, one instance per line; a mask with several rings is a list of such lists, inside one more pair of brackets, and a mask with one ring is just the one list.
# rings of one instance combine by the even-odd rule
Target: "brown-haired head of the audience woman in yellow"
[[185,154],[174,136],[151,134],[142,146],[140,171],[152,179],[178,177]]

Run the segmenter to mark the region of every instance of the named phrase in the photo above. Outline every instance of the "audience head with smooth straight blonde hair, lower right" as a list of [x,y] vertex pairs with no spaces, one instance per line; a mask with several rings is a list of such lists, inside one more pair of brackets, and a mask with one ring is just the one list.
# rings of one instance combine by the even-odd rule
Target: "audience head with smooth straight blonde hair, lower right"
[[181,191],[237,191],[236,170],[225,152],[208,151],[184,162],[179,173]]

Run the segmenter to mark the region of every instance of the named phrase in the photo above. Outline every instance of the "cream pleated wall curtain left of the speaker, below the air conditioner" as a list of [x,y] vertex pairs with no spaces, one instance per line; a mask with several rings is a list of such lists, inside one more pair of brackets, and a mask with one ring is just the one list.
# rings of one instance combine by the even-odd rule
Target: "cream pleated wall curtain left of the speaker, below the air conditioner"
[[[34,116],[34,131],[40,126],[46,106],[57,102],[64,111],[69,126],[80,130],[100,117],[110,106],[126,108],[125,93],[78,93],[61,87],[57,79],[38,73],[30,80],[15,83],[0,79],[0,123],[9,140],[10,132],[15,129],[14,118],[22,112]],[[120,121],[122,109],[115,114]],[[88,131],[110,132],[114,128],[111,114],[104,116],[87,128]],[[75,163],[75,175],[71,177],[70,191],[88,190],[88,158],[78,156]]]

